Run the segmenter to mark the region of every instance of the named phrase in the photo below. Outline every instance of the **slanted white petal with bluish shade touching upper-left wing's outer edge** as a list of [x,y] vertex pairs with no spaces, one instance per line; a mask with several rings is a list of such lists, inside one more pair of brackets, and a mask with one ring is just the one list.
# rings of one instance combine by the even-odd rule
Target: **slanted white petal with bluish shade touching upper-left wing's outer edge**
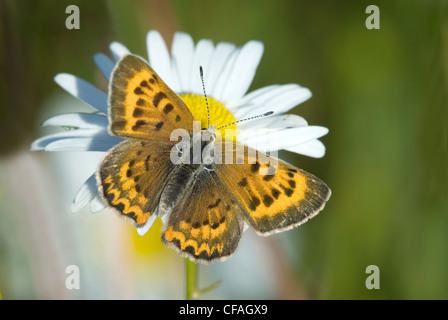
[[54,81],[74,97],[107,114],[107,94],[87,81],[68,73],[59,73],[54,77]]

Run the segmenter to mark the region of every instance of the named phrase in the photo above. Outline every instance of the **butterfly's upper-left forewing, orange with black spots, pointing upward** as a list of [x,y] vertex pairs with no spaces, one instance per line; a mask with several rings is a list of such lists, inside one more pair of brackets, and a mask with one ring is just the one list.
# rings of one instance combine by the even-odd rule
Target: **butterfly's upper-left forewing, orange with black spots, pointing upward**
[[168,142],[176,128],[193,130],[185,102],[137,56],[118,62],[109,92],[110,131],[117,136]]

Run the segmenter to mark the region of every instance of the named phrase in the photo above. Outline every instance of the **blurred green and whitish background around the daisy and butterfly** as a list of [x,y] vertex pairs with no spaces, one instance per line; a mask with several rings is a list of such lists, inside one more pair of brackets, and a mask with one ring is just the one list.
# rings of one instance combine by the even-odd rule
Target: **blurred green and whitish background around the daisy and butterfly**
[[[65,28],[65,8],[71,4],[80,8],[79,30]],[[370,4],[380,9],[379,30],[365,27]],[[327,147],[324,158],[281,154],[331,187],[333,195],[323,213],[300,228],[257,238],[261,246],[273,248],[269,261],[281,261],[269,268],[255,261],[261,271],[251,272],[261,273],[267,281],[262,289],[257,287],[259,278],[232,280],[247,267],[238,264],[250,250],[244,245],[229,262],[201,266],[201,284],[223,280],[205,298],[448,298],[448,1],[0,0],[4,299],[183,298],[182,259],[159,244],[158,230],[146,240],[137,239],[131,227],[122,227],[125,222],[115,219],[119,235],[128,240],[119,236],[98,240],[93,235],[86,241],[79,230],[92,234],[110,215],[68,213],[88,175],[67,186],[64,178],[51,176],[52,161],[59,155],[28,152],[30,143],[42,136],[42,121],[80,111],[54,102],[62,96],[75,103],[54,83],[54,75],[72,73],[105,90],[92,55],[108,54],[109,43],[119,41],[146,56],[145,35],[150,29],[159,30],[168,44],[175,31],[188,32],[195,41],[209,38],[237,45],[262,41],[265,51],[250,90],[275,83],[305,86],[313,97],[292,112],[330,129],[322,138]],[[25,160],[24,165],[23,157],[29,158],[23,154],[37,157],[46,168],[40,176],[50,186],[38,188],[56,203],[56,215],[35,210],[43,200],[31,194],[36,185],[22,169],[29,166],[26,161],[34,160]],[[77,155],[62,160],[73,157]],[[59,192],[67,195],[61,198]],[[69,218],[58,224],[62,216]],[[39,224],[43,220],[50,222]],[[78,220],[84,229],[73,231]],[[71,234],[70,240],[66,234]],[[115,249],[104,249],[108,239],[122,243],[121,251],[114,248],[117,255],[126,255],[117,257]],[[108,259],[118,264],[132,262],[111,270],[113,266],[96,252],[102,249],[110,250]],[[163,259],[168,261],[162,263],[164,274],[152,270],[154,278],[140,281],[145,270],[155,263],[160,266]],[[67,293],[63,287],[67,264],[88,266],[84,270],[89,269],[90,284],[83,280],[80,290]],[[54,269],[47,270],[47,265]],[[369,265],[380,268],[379,290],[366,289]],[[47,281],[57,274],[63,280],[48,289]],[[135,286],[123,288],[131,275]],[[252,291],[247,289],[251,286]]]

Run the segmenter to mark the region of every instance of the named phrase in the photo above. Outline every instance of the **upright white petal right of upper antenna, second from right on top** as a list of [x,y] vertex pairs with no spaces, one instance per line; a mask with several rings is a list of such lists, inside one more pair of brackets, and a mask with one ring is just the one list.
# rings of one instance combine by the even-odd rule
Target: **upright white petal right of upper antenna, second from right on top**
[[208,70],[204,70],[205,89],[210,97],[216,98],[216,84],[235,48],[236,46],[233,43],[228,42],[220,42],[216,45]]

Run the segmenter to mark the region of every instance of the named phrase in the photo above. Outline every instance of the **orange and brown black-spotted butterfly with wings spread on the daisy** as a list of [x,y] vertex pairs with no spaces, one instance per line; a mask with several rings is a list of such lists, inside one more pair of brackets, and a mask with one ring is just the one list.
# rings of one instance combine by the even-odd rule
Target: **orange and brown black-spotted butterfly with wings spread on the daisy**
[[[137,56],[117,63],[108,99],[109,131],[124,140],[97,172],[104,201],[137,228],[156,216],[166,219],[162,242],[193,261],[234,254],[245,225],[259,235],[300,225],[330,197],[328,186],[310,173],[233,140],[215,140],[215,126],[195,132],[185,102]],[[187,142],[211,137],[199,139],[208,156],[173,161],[173,154],[194,160],[194,146],[172,141],[179,129]],[[219,154],[234,161],[218,161]]]

